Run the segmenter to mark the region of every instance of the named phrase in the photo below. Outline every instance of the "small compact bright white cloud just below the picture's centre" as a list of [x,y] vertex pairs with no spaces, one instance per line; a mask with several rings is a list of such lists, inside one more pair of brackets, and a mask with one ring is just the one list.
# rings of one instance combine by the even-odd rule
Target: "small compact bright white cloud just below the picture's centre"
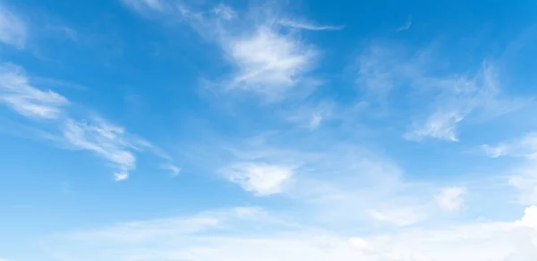
[[223,170],[229,181],[258,196],[282,192],[286,181],[293,177],[293,172],[290,166],[261,163],[233,164]]

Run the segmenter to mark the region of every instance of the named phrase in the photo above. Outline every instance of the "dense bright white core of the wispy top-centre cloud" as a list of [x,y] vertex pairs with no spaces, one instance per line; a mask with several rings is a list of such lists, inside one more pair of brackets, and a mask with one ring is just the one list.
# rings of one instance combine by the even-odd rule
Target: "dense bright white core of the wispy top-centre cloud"
[[252,33],[224,43],[238,72],[229,88],[244,88],[275,97],[294,87],[316,56],[299,39],[259,26]]

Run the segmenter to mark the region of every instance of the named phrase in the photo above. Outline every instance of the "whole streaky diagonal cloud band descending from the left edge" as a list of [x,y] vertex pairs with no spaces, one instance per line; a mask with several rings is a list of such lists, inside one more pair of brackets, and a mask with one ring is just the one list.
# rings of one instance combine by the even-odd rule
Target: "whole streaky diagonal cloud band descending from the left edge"
[[0,104],[31,120],[53,123],[55,130],[47,134],[47,139],[61,147],[91,151],[107,160],[115,169],[115,181],[129,177],[136,167],[135,155],[143,150],[170,161],[158,147],[101,117],[73,118],[68,107],[71,101],[52,90],[36,87],[26,72],[12,63],[0,65]]

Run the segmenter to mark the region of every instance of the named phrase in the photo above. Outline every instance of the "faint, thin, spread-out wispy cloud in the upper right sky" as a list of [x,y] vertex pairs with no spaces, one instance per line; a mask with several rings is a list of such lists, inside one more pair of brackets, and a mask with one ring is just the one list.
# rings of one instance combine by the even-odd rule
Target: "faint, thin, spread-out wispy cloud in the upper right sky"
[[404,47],[371,44],[358,56],[356,80],[364,97],[380,105],[389,105],[393,91],[419,97],[422,110],[411,115],[405,139],[456,142],[458,125],[469,115],[507,114],[525,103],[502,95],[499,72],[492,63],[483,62],[473,73],[435,72],[432,50],[408,53]]

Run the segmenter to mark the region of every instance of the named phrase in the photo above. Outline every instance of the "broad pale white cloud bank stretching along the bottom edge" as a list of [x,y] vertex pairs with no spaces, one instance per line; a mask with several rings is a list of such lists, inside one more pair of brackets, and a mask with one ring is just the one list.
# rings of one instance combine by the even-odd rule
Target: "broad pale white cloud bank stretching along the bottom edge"
[[[120,223],[48,237],[42,244],[49,255],[62,253],[61,261],[531,261],[537,258],[537,230],[531,225],[535,209],[526,208],[518,222],[450,224],[356,237],[315,226],[274,226],[231,209]],[[308,216],[297,218],[308,223]]]

